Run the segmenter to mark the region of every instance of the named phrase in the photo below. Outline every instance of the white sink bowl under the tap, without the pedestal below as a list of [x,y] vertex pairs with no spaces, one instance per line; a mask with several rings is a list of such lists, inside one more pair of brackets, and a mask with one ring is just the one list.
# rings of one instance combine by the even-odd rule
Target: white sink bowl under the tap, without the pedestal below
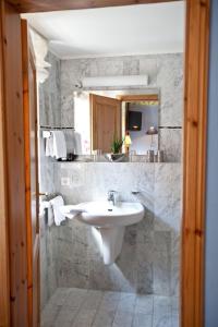
[[[64,206],[68,214],[78,211],[78,220],[95,227],[129,226],[143,219],[144,207],[141,203],[119,202],[116,206],[109,202],[85,202],[76,206]],[[69,217],[72,218],[72,217]]]

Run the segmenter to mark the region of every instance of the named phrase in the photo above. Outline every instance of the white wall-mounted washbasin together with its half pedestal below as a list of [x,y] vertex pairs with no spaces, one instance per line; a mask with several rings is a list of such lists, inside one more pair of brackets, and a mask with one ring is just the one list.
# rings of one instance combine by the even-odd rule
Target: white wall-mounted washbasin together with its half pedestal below
[[140,222],[144,207],[141,203],[119,202],[113,206],[109,202],[95,201],[63,206],[61,213],[93,227],[104,262],[109,265],[121,252],[125,226]]

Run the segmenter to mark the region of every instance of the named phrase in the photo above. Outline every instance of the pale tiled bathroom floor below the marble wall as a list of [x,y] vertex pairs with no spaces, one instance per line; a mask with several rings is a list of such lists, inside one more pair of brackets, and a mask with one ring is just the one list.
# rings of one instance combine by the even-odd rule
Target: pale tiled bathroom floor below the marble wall
[[41,327],[179,327],[178,298],[59,288]]

